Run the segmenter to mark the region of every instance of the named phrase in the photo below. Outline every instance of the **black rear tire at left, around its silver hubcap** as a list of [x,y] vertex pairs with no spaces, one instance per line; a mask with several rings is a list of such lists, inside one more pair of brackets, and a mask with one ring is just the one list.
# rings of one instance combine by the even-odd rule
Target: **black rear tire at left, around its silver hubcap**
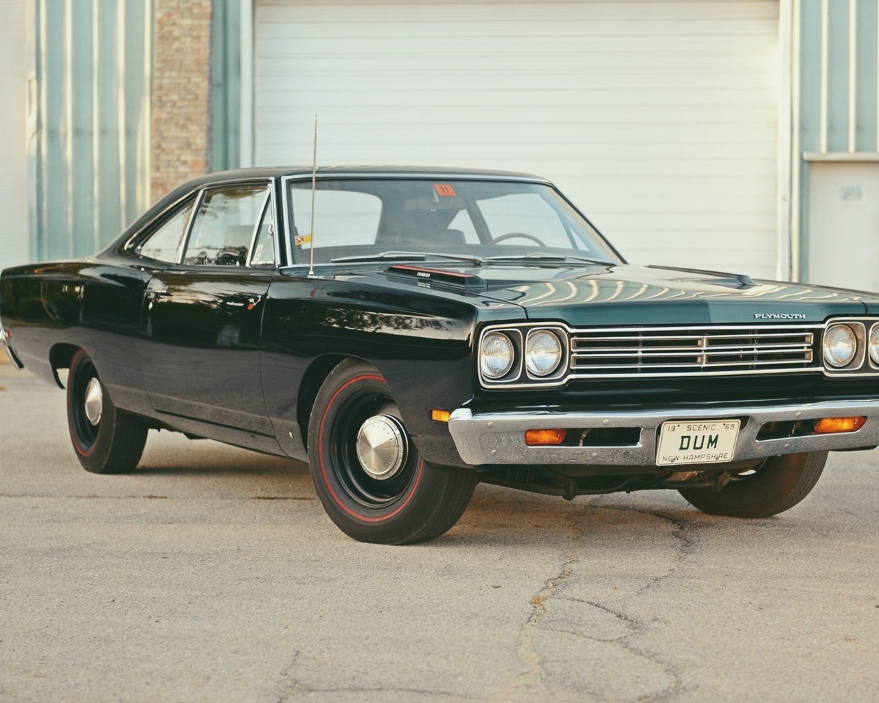
[[[99,393],[95,421],[89,419],[86,401]],[[97,385],[95,385],[97,384]],[[91,410],[95,416],[95,411]],[[146,425],[120,412],[98,378],[98,370],[82,349],[70,360],[67,377],[67,424],[76,458],[93,474],[125,474],[137,467],[147,441]]]

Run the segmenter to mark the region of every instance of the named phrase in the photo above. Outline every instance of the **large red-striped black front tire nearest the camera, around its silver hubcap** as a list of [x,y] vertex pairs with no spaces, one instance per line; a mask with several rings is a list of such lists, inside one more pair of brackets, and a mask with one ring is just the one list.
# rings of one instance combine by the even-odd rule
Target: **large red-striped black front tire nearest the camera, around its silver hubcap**
[[[402,435],[396,473],[377,479],[358,454],[361,427],[376,417]],[[385,420],[384,422],[388,422]],[[347,359],[317,393],[309,421],[309,464],[331,520],[361,542],[412,544],[439,537],[467,508],[476,471],[433,467],[406,434],[388,384],[372,366]]]

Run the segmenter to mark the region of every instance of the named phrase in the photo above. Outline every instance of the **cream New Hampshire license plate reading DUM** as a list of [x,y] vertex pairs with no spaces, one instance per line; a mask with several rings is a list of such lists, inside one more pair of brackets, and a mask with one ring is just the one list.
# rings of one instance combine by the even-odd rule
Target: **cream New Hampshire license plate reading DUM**
[[731,461],[739,420],[667,422],[659,431],[657,466]]

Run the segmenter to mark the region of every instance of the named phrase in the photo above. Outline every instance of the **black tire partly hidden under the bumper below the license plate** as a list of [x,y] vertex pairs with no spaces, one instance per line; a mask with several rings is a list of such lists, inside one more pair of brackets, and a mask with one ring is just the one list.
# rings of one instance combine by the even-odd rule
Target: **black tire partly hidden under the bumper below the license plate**
[[731,476],[723,489],[678,489],[686,501],[708,515],[769,518],[793,508],[815,487],[826,452],[774,456],[753,472]]

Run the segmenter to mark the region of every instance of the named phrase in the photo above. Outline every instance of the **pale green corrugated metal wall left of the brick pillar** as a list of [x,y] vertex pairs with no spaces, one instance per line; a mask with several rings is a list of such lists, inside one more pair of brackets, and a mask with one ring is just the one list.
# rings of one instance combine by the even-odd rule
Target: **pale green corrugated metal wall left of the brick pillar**
[[149,205],[152,0],[36,0],[31,256],[90,254]]

